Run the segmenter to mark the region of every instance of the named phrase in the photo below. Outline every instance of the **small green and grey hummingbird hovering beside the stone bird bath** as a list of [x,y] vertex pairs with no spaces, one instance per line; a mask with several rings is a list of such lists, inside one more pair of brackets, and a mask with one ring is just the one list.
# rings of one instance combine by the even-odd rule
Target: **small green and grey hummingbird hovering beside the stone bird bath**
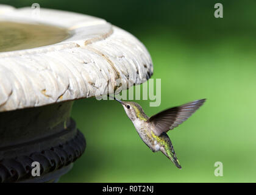
[[172,107],[149,118],[136,102],[124,102],[115,97],[110,97],[123,105],[127,116],[133,122],[138,135],[146,146],[148,146],[152,152],[161,151],[177,168],[182,169],[167,132],[186,121],[204,104],[206,99],[199,99],[177,107]]

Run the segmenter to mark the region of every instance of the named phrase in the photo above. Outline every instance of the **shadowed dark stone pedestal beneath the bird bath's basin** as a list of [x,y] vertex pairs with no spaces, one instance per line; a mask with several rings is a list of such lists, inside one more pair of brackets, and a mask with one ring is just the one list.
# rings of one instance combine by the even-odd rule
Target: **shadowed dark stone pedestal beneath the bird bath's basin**
[[[73,102],[0,113],[0,182],[57,182],[85,149]],[[32,176],[32,162],[40,176]]]

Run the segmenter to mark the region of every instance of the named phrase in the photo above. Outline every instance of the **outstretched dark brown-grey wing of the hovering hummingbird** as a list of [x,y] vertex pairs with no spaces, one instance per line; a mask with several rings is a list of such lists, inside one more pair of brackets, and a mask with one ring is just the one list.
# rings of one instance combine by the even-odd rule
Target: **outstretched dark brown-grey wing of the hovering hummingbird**
[[199,99],[178,107],[169,108],[160,113],[157,113],[148,119],[155,125],[153,131],[155,135],[160,136],[163,132],[174,129],[174,127],[186,121],[196,110],[204,104],[206,99]]

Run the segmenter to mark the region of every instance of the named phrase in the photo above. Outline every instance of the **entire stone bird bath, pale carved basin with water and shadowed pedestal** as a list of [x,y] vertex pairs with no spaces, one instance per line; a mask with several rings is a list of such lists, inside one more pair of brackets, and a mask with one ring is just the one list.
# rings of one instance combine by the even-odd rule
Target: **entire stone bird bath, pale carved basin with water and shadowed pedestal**
[[0,37],[0,182],[56,182],[85,150],[74,100],[127,89],[153,71],[137,38],[79,13],[0,5]]

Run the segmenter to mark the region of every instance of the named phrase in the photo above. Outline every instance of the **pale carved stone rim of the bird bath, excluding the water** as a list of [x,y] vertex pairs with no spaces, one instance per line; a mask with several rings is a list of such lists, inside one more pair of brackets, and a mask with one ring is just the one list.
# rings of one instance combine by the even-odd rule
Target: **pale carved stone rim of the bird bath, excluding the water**
[[32,17],[30,7],[1,5],[0,19],[52,24],[73,34],[49,46],[0,52],[0,112],[107,94],[107,84],[113,93],[118,79],[139,84],[152,75],[143,44],[104,19],[49,9]]

